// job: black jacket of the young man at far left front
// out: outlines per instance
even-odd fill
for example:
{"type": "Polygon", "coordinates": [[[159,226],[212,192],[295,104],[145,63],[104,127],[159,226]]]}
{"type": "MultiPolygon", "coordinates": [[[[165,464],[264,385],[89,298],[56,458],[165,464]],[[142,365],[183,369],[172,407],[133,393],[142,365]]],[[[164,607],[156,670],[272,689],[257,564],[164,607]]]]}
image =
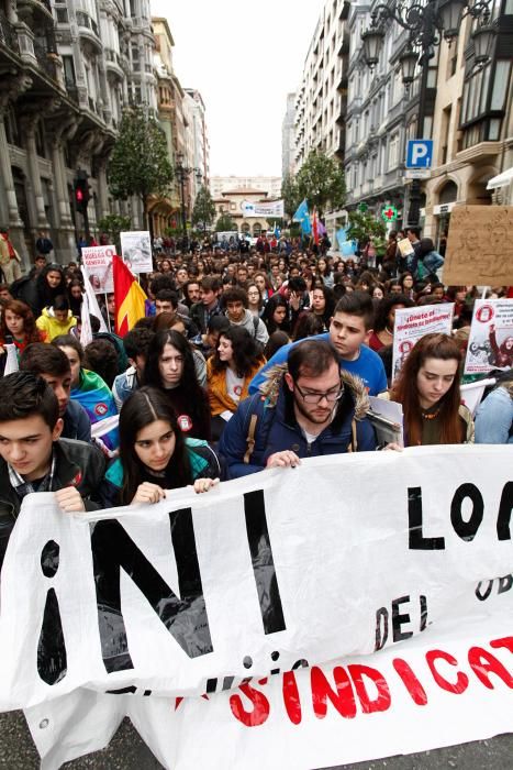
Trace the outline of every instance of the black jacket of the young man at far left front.
{"type": "MultiPolygon", "coordinates": [[[[88,510],[100,508],[93,502],[99,499],[99,487],[105,472],[105,460],[100,450],[83,441],[69,439],[59,439],[54,447],[57,454],[54,488],[76,486],[88,510]]],[[[7,463],[0,458],[0,568],[21,503],[9,481],[7,463]]]]}

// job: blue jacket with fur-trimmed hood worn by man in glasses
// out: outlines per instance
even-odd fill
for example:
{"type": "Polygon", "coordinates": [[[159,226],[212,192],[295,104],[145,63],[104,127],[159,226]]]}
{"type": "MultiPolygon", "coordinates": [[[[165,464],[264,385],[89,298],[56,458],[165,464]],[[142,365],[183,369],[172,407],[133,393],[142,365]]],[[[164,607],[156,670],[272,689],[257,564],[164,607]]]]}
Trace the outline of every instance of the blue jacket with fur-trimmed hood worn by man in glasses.
{"type": "Polygon", "coordinates": [[[228,479],[257,473],[266,468],[268,458],[275,452],[292,450],[300,458],[338,454],[348,451],[376,449],[376,436],[365,415],[368,408],[367,394],[358,377],[341,371],[345,395],[337,406],[332,424],[309,444],[298,425],[290,392],[283,385],[287,365],[275,366],[269,372],[265,393],[249,396],[239,404],[236,413],[224,428],[218,446],[228,479]],[[248,462],[244,462],[252,416],[255,415],[255,446],[248,462]],[[353,431],[356,446],[353,444],[353,431]]]}

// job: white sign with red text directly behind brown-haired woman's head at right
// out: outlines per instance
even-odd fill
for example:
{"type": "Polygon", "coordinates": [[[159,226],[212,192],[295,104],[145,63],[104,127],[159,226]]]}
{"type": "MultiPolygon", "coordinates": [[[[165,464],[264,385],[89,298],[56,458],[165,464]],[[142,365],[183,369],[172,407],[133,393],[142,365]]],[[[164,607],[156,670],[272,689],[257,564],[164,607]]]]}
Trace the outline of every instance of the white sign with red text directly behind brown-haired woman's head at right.
{"type": "Polygon", "coordinates": [[[393,380],[398,376],[413,345],[421,337],[433,332],[451,333],[453,314],[453,302],[423,305],[416,308],[395,310],[392,360],[393,380]]]}

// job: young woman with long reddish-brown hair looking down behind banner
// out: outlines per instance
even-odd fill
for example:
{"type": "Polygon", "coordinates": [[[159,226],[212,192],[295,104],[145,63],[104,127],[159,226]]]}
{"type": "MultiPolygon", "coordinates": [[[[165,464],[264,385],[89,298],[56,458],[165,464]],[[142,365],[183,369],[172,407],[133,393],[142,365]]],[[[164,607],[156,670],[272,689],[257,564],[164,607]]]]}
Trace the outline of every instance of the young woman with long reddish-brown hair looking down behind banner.
{"type": "Polygon", "coordinates": [[[461,404],[460,361],[448,334],[425,334],[413,346],[386,394],[402,404],[405,447],[473,443],[472,416],[461,404]]]}

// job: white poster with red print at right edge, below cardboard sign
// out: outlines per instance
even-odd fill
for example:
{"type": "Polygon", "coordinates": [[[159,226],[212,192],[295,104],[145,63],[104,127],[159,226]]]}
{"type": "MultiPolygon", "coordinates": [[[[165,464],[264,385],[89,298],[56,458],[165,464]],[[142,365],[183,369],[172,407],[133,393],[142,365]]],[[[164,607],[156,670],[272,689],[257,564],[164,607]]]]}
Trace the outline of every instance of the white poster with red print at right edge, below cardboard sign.
{"type": "Polygon", "coordinates": [[[465,374],[487,374],[513,366],[513,299],[477,299],[465,360],[465,374]]]}

